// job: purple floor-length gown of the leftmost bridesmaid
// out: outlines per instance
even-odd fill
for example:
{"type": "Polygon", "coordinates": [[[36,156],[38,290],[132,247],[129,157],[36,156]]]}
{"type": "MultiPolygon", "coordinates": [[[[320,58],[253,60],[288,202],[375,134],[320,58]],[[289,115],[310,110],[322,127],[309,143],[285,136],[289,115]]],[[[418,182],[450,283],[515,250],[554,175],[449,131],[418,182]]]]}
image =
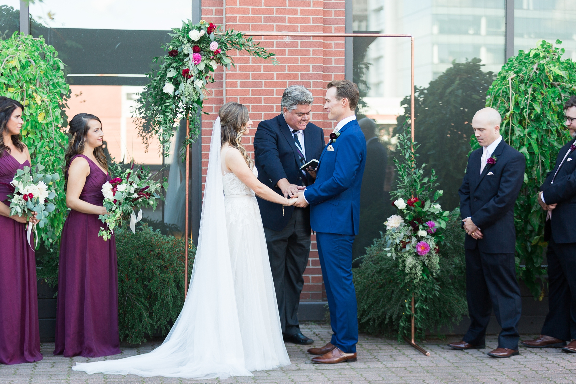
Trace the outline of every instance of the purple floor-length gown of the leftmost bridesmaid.
{"type": "MultiPolygon", "coordinates": [[[[20,164],[8,151],[0,156],[0,201],[9,205],[8,184],[20,164]]],[[[0,364],[42,360],[38,330],[38,294],[34,250],[26,241],[26,224],[0,216],[0,364]]]]}

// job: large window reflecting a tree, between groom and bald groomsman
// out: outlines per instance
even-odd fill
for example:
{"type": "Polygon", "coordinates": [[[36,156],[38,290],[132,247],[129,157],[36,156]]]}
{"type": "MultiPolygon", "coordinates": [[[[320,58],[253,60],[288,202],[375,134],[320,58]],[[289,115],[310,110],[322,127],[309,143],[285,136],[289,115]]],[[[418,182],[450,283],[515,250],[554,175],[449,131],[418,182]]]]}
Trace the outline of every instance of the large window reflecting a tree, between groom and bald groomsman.
{"type": "MultiPolygon", "coordinates": [[[[407,0],[353,0],[353,26],[355,32],[415,36],[415,85],[426,89],[416,94],[419,162],[436,170],[439,189],[445,191],[440,202],[453,210],[470,149],[472,116],[483,108],[491,72],[504,63],[505,1],[432,0],[414,5],[407,0]]],[[[360,123],[368,149],[360,230],[354,242],[357,258],[396,212],[389,191],[395,180],[397,121],[403,120],[410,101],[410,39],[354,37],[353,48],[353,81],[361,91],[357,116],[366,118],[360,123]]]]}

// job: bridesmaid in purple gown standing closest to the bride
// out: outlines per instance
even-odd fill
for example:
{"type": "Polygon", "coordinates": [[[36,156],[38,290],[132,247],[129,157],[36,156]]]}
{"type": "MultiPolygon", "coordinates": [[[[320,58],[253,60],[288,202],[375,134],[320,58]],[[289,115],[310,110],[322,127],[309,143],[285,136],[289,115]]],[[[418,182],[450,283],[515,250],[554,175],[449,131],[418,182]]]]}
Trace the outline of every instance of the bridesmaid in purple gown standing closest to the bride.
{"type": "Polygon", "coordinates": [[[99,356],[120,353],[116,243],[98,237],[101,188],[108,166],[98,117],[78,113],[69,123],[65,157],[66,206],[71,211],[60,241],[54,355],[99,356]]]}

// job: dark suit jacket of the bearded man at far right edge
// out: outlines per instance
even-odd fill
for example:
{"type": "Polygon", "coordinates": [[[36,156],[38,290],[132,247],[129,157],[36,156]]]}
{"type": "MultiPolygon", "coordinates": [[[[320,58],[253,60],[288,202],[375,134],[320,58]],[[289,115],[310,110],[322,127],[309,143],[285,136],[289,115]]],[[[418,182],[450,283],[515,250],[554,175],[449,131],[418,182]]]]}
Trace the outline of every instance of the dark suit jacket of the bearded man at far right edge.
{"type": "Polygon", "coordinates": [[[576,217],[576,151],[570,153],[564,164],[558,169],[574,141],[570,140],[560,149],[554,169],[552,172],[548,172],[544,184],[540,187],[546,204],[558,204],[552,210],[552,220],[546,222],[545,241],[550,240],[552,235],[554,241],[560,244],[576,242],[576,226],[574,226],[574,218],[576,217]],[[551,184],[556,169],[558,169],[558,173],[554,178],[554,184],[551,184]]]}

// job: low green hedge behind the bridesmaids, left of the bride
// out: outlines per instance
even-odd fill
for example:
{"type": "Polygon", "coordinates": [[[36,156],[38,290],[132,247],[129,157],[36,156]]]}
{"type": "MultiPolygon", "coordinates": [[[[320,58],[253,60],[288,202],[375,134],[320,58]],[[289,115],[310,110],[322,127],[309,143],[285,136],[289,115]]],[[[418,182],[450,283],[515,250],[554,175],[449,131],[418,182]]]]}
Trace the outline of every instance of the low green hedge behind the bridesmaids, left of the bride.
{"type": "MultiPolygon", "coordinates": [[[[161,234],[147,223],[136,234],[115,231],[118,254],[120,341],[141,344],[152,334],[166,336],[184,305],[184,239],[161,234]]],[[[37,252],[38,279],[58,284],[58,246],[37,252]]],[[[188,282],[196,248],[188,252],[188,282]]]]}

